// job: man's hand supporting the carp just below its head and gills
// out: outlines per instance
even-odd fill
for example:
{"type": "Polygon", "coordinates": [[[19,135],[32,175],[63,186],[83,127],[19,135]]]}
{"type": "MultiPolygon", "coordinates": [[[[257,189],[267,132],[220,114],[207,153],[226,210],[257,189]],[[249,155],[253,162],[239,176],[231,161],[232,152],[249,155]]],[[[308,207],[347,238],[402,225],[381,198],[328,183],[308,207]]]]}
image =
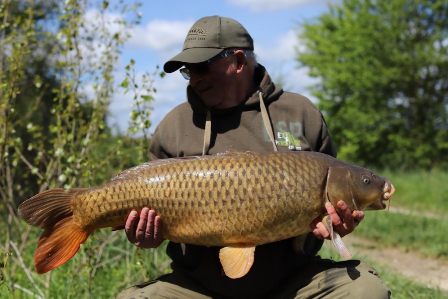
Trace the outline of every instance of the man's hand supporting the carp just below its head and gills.
{"type": "MultiPolygon", "coordinates": [[[[340,213],[342,215],[342,219],[337,214],[334,206],[327,202],[325,204],[325,208],[327,209],[328,215],[331,217],[331,221],[333,222],[333,229],[339,234],[339,236],[343,237],[348,235],[352,231],[355,230],[355,227],[364,219],[364,212],[362,211],[353,211],[350,212],[349,208],[342,200],[338,201],[337,208],[339,208],[340,213]]],[[[314,219],[311,222],[311,229],[314,236],[319,239],[329,239],[330,233],[325,228],[325,225],[322,223],[322,219],[314,219]]]]}

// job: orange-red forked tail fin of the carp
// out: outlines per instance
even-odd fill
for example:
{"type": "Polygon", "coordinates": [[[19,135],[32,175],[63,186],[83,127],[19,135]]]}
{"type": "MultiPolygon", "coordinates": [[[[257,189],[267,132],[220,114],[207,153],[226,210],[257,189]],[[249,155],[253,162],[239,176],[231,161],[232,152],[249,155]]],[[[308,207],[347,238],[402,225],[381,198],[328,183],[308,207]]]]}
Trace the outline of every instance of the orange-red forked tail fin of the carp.
{"type": "Polygon", "coordinates": [[[34,195],[18,207],[20,217],[43,229],[34,254],[38,274],[61,266],[78,252],[92,231],[73,221],[71,200],[81,189],[50,189],[34,195]]]}

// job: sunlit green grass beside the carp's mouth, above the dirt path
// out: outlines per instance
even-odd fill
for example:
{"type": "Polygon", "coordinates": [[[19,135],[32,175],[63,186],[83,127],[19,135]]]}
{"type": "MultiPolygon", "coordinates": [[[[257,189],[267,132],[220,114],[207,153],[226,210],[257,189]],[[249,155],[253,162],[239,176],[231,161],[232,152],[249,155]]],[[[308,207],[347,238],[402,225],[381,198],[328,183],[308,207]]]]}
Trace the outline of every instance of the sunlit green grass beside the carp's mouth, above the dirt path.
{"type": "Polygon", "coordinates": [[[406,212],[367,211],[354,234],[423,256],[447,259],[447,173],[435,170],[388,176],[397,190],[391,206],[406,212]]]}

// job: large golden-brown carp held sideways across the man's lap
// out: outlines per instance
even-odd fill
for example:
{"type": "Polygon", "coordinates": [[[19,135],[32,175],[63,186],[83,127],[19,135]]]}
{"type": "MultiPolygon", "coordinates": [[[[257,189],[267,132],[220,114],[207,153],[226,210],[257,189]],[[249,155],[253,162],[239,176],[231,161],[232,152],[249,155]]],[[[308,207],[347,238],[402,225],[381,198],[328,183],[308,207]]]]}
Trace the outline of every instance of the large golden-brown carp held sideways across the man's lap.
{"type": "Polygon", "coordinates": [[[149,207],[162,219],[163,238],[223,247],[224,272],[239,278],[250,270],[256,246],[308,233],[317,217],[331,229],[326,202],[381,210],[394,191],[388,179],[323,153],[230,150],[150,161],[102,186],[49,189],[18,213],[44,230],[34,255],[39,274],[67,262],[94,230],[124,228],[132,210],[149,207]]]}

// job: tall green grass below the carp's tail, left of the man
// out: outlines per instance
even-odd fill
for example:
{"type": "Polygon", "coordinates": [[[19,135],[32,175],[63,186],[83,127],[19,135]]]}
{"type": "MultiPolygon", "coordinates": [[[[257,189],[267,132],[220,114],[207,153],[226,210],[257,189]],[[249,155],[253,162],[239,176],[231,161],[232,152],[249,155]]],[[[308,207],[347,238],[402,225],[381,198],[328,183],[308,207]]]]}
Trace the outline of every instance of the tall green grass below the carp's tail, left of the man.
{"type": "Polygon", "coordinates": [[[18,255],[11,248],[12,256],[7,261],[0,286],[2,299],[115,298],[128,287],[169,271],[166,242],[157,250],[143,250],[128,242],[124,231],[102,229],[88,238],[67,263],[47,274],[38,275],[32,258],[41,231],[32,230],[36,238],[22,254],[18,255]]]}

